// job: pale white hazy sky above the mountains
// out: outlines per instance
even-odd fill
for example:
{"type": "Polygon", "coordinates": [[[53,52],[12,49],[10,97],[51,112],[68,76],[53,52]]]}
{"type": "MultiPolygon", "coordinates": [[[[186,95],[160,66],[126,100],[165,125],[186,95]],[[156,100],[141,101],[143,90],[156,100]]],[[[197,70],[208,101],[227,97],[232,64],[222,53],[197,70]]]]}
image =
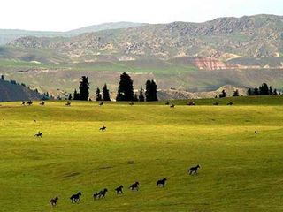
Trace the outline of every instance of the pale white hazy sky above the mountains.
{"type": "Polygon", "coordinates": [[[0,28],[66,31],[104,22],[283,15],[283,0],[1,0],[0,28]]]}

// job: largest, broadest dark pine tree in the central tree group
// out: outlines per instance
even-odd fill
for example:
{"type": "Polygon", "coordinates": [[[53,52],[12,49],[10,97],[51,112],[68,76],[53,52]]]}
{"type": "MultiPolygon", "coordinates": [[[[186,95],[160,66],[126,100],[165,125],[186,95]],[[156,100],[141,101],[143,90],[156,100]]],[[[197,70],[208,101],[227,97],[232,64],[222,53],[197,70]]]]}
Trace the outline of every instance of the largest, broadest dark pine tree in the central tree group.
{"type": "Polygon", "coordinates": [[[126,72],[120,75],[117,101],[134,101],[134,86],[131,77],[126,72]]]}

